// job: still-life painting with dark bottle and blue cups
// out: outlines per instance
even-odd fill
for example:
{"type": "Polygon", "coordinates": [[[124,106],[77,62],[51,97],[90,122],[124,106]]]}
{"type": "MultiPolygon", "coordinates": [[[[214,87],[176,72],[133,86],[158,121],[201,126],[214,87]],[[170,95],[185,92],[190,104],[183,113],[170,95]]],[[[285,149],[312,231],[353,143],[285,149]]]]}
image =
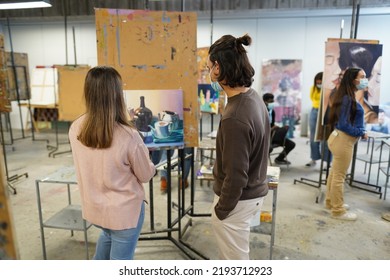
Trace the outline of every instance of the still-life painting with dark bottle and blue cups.
{"type": "Polygon", "coordinates": [[[124,94],[148,148],[184,147],[182,90],[125,90],[124,94]]]}

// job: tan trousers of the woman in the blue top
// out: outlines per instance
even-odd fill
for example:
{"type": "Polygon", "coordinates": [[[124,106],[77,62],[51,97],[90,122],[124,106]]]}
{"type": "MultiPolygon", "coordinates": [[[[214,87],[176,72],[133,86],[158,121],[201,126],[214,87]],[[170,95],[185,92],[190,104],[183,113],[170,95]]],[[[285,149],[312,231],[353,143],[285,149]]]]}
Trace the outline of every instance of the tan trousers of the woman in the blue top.
{"type": "Polygon", "coordinates": [[[332,152],[332,168],[326,182],[325,206],[332,210],[333,216],[343,215],[344,182],[351,164],[353,146],[359,137],[350,136],[335,129],[328,138],[328,147],[332,152]]]}

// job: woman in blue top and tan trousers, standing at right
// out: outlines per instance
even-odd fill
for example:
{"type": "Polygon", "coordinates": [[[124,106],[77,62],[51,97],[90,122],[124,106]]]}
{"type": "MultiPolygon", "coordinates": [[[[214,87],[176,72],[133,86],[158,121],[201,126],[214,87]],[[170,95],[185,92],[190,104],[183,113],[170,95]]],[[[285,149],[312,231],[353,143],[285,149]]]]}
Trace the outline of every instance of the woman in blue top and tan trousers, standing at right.
{"type": "Polygon", "coordinates": [[[334,128],[328,138],[333,164],[326,183],[325,207],[331,217],[354,221],[357,215],[347,212],[344,204],[343,186],[351,164],[353,146],[359,138],[367,139],[364,124],[364,109],[356,100],[356,92],[367,87],[366,73],[361,68],[348,68],[338,89],[330,96],[329,123],[334,128]]]}

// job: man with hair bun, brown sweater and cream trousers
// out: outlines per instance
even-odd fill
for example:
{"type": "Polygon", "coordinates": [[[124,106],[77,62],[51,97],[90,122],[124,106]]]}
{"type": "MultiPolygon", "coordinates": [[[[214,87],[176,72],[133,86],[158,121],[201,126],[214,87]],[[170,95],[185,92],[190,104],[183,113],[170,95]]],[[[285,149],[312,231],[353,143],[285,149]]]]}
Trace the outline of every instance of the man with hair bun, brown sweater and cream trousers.
{"type": "Polygon", "coordinates": [[[255,71],[244,46],[251,37],[224,35],[209,49],[211,86],[226,93],[216,139],[211,223],[221,259],[249,259],[251,220],[268,193],[270,125],[267,108],[251,88],[255,71]]]}

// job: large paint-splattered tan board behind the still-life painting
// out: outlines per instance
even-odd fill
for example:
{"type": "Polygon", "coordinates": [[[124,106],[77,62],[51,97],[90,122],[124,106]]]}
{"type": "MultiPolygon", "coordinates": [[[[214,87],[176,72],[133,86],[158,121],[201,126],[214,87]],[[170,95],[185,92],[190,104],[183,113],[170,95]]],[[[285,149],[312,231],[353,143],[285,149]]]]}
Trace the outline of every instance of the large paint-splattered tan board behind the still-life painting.
{"type": "Polygon", "coordinates": [[[197,147],[196,13],[95,9],[95,18],[98,64],[115,67],[125,90],[182,89],[185,145],[197,147]]]}

